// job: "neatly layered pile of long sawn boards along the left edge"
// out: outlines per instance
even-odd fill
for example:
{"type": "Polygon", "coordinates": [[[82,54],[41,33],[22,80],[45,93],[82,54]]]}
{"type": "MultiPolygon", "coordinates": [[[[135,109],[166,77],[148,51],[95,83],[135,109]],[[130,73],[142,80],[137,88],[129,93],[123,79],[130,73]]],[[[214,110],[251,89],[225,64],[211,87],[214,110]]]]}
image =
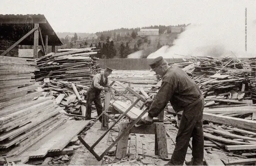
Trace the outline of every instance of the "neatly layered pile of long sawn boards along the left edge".
{"type": "Polygon", "coordinates": [[[48,152],[62,151],[88,123],[65,120],[53,94],[45,95],[33,82],[37,69],[31,65],[35,64],[33,59],[0,57],[0,154],[8,160],[21,157],[25,163],[48,152]],[[55,139],[50,139],[52,135],[46,139],[49,134],[55,139]],[[47,149],[43,148],[45,144],[47,149]]]}

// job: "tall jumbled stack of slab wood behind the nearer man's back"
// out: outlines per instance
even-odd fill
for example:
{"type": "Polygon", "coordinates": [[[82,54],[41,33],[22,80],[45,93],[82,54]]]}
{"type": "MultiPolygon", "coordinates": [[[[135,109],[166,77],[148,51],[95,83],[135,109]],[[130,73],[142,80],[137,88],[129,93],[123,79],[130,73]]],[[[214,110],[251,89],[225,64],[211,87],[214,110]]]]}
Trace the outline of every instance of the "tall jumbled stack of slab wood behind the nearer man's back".
{"type": "MultiPolygon", "coordinates": [[[[249,65],[237,58],[189,57],[180,67],[197,83],[205,97],[205,107],[226,104],[252,104],[249,96],[249,65]]],[[[148,95],[157,93],[161,81],[148,95]]]]}

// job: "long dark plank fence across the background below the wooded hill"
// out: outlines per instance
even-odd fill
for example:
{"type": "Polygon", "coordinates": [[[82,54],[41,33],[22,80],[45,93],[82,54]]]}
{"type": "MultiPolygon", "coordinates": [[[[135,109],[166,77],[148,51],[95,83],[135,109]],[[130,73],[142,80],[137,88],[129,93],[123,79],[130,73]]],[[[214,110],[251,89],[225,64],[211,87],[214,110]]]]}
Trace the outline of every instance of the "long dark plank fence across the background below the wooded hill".
{"type": "MultiPolygon", "coordinates": [[[[147,70],[150,69],[148,65],[153,59],[147,58],[115,58],[115,59],[100,59],[98,63],[102,69],[109,67],[116,70],[147,70]]],[[[183,61],[181,58],[165,59],[168,63],[183,61]]]]}

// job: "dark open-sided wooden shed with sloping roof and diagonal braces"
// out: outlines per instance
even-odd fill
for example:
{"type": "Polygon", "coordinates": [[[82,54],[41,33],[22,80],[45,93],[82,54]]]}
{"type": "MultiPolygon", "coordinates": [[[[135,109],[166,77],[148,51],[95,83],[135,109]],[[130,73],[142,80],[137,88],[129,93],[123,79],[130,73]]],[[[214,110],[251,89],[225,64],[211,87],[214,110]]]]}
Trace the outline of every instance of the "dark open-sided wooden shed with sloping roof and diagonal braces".
{"type": "Polygon", "coordinates": [[[0,56],[18,57],[19,45],[33,45],[33,58],[38,58],[38,45],[47,54],[48,46],[55,52],[63,44],[43,14],[0,14],[0,29],[0,56]]]}

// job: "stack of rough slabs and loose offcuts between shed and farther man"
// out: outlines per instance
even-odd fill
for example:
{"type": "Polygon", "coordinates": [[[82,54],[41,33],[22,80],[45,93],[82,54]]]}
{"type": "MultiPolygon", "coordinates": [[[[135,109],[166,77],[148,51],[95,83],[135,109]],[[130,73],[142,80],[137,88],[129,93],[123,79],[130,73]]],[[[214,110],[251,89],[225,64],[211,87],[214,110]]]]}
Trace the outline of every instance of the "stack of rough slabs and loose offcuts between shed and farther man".
{"type": "Polygon", "coordinates": [[[37,59],[40,71],[36,72],[36,81],[42,85],[41,91],[55,96],[56,104],[63,107],[65,113],[85,115],[86,90],[101,70],[96,61],[99,59],[93,57],[97,53],[94,48],[60,49],[59,53],[37,59]]]}

